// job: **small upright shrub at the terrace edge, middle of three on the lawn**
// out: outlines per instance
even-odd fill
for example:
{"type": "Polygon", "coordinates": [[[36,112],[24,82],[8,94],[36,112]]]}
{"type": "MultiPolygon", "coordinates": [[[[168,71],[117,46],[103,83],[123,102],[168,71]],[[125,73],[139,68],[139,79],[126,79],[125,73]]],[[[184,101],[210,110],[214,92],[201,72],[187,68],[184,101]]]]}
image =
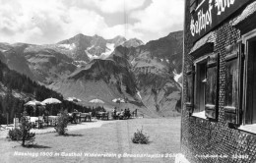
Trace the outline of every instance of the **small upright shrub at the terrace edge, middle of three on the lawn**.
{"type": "Polygon", "coordinates": [[[60,116],[57,119],[57,126],[54,128],[60,136],[65,135],[66,132],[68,131],[66,129],[68,126],[68,123],[69,123],[69,116],[68,116],[67,110],[65,111],[61,110],[60,116]]]}

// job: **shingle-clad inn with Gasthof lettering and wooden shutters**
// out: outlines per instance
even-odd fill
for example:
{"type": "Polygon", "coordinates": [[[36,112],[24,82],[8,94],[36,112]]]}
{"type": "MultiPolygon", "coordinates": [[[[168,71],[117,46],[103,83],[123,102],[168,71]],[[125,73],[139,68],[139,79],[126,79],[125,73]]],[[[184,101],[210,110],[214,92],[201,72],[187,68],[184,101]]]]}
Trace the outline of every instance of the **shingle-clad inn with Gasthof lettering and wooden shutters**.
{"type": "Polygon", "coordinates": [[[181,152],[256,162],[256,0],[186,0],[181,152]]]}

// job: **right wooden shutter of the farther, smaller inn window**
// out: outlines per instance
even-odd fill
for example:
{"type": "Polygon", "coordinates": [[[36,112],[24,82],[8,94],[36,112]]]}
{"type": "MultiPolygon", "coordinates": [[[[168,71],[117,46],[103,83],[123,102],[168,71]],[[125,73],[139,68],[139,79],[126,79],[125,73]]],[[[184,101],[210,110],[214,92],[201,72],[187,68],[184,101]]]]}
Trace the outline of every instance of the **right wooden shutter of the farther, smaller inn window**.
{"type": "Polygon", "coordinates": [[[217,120],[219,106],[219,54],[210,55],[207,62],[205,115],[217,120]]]}

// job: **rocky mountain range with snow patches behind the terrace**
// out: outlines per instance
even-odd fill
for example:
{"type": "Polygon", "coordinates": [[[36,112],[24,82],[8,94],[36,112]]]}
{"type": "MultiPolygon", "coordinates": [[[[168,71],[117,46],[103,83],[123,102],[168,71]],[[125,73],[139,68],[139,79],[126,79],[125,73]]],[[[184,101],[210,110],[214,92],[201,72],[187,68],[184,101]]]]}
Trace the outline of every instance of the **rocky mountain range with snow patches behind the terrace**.
{"type": "Polygon", "coordinates": [[[123,36],[104,39],[82,33],[55,44],[0,43],[0,60],[64,97],[82,105],[102,99],[150,117],[178,114],[183,33],[175,31],[148,43],[123,36]],[[127,103],[117,104],[114,98],[127,103]]]}

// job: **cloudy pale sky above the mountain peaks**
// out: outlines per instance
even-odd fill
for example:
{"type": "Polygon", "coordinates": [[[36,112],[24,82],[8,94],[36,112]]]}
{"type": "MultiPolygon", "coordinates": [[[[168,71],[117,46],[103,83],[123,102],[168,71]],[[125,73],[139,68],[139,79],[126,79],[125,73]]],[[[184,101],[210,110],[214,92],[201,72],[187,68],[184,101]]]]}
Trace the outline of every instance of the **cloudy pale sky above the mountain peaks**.
{"type": "Polygon", "coordinates": [[[78,33],[139,38],[183,29],[184,0],[0,0],[0,42],[56,43],[78,33]]]}

